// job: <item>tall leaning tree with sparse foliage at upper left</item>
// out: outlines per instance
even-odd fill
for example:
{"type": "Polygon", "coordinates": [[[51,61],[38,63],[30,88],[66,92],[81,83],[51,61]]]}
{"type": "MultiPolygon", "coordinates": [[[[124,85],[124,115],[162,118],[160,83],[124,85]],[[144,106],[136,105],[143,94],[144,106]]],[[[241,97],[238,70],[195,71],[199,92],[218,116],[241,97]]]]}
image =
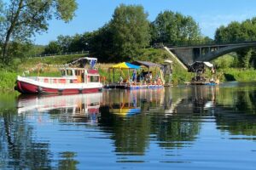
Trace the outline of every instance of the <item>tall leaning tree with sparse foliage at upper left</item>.
{"type": "Polygon", "coordinates": [[[75,0],[10,0],[3,8],[1,59],[3,63],[9,63],[10,41],[26,41],[36,32],[46,31],[47,21],[53,16],[65,22],[72,20],[77,3],[75,0]]]}

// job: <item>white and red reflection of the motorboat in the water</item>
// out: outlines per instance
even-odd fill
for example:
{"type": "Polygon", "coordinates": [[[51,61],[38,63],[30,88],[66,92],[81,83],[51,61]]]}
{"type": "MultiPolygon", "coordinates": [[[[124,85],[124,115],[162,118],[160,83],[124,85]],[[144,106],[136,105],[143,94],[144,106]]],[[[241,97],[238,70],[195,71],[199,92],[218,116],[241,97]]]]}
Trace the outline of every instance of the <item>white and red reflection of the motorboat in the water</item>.
{"type": "MultiPolygon", "coordinates": [[[[97,123],[102,93],[75,95],[20,95],[18,99],[18,114],[39,113],[38,122],[42,120],[40,113],[49,113],[51,119],[60,122],[97,123]]],[[[32,118],[35,118],[32,116],[32,118]]]]}

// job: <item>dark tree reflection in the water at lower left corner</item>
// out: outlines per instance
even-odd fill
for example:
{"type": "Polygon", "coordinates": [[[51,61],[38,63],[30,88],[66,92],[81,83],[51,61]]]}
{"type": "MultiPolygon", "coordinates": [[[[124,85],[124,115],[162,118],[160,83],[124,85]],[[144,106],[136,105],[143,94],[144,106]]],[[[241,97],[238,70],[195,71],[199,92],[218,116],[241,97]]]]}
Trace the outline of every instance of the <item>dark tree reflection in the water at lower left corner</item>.
{"type": "Polygon", "coordinates": [[[0,168],[50,168],[49,143],[35,139],[34,128],[16,110],[3,110],[0,115],[0,168]]]}

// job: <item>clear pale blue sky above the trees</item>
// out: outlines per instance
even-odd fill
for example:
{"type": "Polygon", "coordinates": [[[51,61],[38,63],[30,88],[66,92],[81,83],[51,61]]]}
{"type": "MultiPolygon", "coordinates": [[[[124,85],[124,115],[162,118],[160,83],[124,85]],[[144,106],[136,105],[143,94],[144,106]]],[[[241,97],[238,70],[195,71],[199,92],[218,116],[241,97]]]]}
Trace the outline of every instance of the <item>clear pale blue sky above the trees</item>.
{"type": "Polygon", "coordinates": [[[208,37],[214,37],[218,26],[256,16],[256,0],[77,0],[77,3],[79,8],[71,22],[50,20],[49,30],[37,35],[34,42],[47,44],[59,35],[95,31],[111,20],[114,8],[120,3],[143,5],[150,21],[164,10],[191,15],[201,27],[202,34],[208,37]]]}

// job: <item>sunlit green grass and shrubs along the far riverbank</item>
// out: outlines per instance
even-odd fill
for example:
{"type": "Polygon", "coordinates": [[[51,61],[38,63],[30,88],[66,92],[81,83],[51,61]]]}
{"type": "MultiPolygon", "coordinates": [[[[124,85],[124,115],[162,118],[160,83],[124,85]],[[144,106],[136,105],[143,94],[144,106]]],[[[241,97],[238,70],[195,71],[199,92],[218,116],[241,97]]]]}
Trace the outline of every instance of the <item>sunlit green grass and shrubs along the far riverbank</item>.
{"type": "MultiPolygon", "coordinates": [[[[188,82],[193,77],[193,73],[185,71],[175,59],[172,59],[164,49],[146,48],[139,52],[139,57],[136,60],[148,60],[155,63],[162,63],[164,59],[171,59],[173,61],[173,75],[172,84],[180,85],[184,82],[188,82]]],[[[46,64],[46,65],[64,65],[72,62],[74,59],[84,57],[83,54],[73,54],[73,55],[62,55],[62,56],[51,56],[44,58],[30,58],[17,60],[13,68],[9,70],[0,70],[0,91],[1,92],[12,92],[14,91],[16,77],[22,75],[24,71],[27,71],[36,65],[46,64]]],[[[225,56],[226,59],[230,59],[230,56],[225,56]]],[[[218,63],[223,63],[224,59],[215,59],[212,61],[219,68],[217,69],[217,76],[220,78],[221,82],[237,81],[237,82],[256,82],[256,70],[254,69],[241,69],[241,68],[225,68],[218,63]]],[[[108,82],[108,67],[110,63],[98,63],[97,68],[100,71],[101,77],[106,77],[108,82]]],[[[225,65],[227,66],[227,65],[225,65]]],[[[119,77],[119,72],[117,71],[117,76],[119,77]]],[[[60,76],[59,71],[55,67],[39,67],[38,69],[31,71],[26,76],[49,76],[56,77],[60,76]]]]}

